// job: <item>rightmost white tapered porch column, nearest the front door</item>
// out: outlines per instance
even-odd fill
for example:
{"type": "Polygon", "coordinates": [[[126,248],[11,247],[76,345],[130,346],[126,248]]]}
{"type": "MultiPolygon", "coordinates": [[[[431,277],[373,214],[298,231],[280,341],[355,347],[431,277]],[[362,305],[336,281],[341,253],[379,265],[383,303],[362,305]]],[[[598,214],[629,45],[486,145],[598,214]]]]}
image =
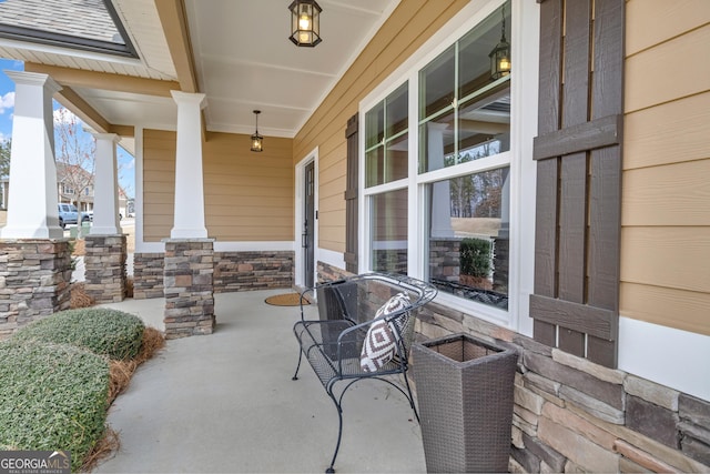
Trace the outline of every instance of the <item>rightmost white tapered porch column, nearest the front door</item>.
{"type": "Polygon", "coordinates": [[[175,211],[171,239],[206,239],[202,178],[202,115],[205,94],[171,91],[178,103],[175,211]]]}

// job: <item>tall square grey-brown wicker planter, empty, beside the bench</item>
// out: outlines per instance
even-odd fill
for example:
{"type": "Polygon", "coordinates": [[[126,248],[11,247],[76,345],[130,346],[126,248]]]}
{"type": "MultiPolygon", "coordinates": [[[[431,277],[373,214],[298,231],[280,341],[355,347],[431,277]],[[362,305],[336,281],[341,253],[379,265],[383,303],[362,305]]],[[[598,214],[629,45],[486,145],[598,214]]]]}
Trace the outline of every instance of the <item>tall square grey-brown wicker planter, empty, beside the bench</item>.
{"type": "Polygon", "coordinates": [[[507,472],[518,355],[467,334],[413,346],[428,472],[507,472]]]}

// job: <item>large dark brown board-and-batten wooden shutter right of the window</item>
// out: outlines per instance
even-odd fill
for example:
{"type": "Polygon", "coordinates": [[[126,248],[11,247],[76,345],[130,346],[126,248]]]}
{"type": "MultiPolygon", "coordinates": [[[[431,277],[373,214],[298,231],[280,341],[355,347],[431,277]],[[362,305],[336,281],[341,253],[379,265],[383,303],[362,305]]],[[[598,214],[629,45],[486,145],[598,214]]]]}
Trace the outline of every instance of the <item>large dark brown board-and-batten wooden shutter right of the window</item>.
{"type": "Polygon", "coordinates": [[[619,312],[623,23],[623,0],[541,2],[534,144],[535,339],[611,367],[619,312]]]}

